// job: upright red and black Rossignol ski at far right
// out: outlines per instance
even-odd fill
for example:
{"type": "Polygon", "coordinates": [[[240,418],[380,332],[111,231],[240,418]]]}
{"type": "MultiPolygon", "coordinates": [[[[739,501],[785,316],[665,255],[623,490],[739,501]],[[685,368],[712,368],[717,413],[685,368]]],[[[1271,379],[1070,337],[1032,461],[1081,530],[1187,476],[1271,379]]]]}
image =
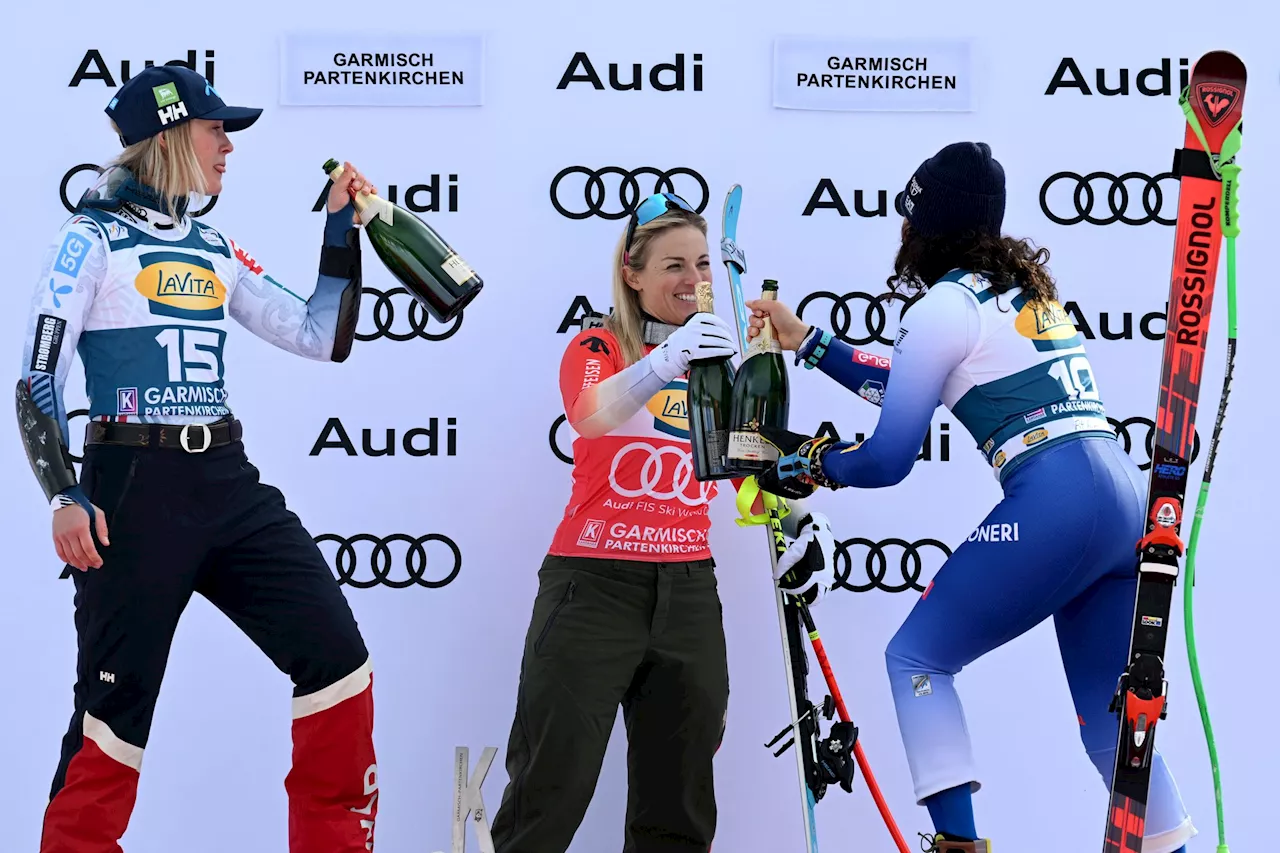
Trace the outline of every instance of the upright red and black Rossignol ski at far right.
{"type": "Polygon", "coordinates": [[[1174,158],[1179,199],[1169,323],[1129,661],[1111,702],[1120,724],[1103,853],[1142,850],[1156,727],[1166,713],[1165,646],[1184,552],[1183,506],[1219,250],[1224,232],[1235,233],[1238,169],[1231,160],[1240,150],[1244,82],[1244,64],[1236,56],[1212,51],[1196,63],[1180,99],[1187,132],[1174,158]]]}

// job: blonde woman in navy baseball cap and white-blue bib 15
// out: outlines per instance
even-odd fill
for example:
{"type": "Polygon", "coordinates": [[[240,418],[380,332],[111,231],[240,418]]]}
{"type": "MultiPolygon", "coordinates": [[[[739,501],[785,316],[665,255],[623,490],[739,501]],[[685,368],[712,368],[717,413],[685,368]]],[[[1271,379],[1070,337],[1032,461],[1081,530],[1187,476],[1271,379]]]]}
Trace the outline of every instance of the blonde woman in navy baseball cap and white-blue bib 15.
{"type": "Polygon", "coordinates": [[[124,150],[59,229],[36,280],[18,425],[54,551],[74,569],[79,648],[41,853],[119,853],[192,593],[293,683],[289,850],[372,849],[369,652],[315,542],[246,457],[223,375],[230,320],[285,352],[347,357],[361,282],[348,190],[366,181],[348,163],[330,190],[319,277],[302,298],[188,214],[192,196],[223,192],[228,134],[260,113],[227,106],[182,67],[129,79],[106,108],[124,150]],[[90,400],[79,478],[63,401],[77,353],[90,400]]]}

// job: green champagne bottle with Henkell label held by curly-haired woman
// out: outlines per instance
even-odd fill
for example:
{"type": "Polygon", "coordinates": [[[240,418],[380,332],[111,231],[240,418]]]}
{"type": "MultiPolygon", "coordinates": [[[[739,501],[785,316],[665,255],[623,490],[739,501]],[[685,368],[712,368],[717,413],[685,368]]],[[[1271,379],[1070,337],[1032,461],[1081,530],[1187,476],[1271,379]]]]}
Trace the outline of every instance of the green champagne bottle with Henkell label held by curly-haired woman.
{"type": "MultiPolygon", "coordinates": [[[[762,300],[778,298],[778,283],[764,279],[762,300]]],[[[782,347],[773,337],[773,324],[764,318],[764,328],[742,353],[742,364],[733,379],[733,403],[730,409],[728,467],[737,476],[763,474],[778,461],[778,451],[760,437],[760,426],[787,428],[791,392],[782,347]]]]}

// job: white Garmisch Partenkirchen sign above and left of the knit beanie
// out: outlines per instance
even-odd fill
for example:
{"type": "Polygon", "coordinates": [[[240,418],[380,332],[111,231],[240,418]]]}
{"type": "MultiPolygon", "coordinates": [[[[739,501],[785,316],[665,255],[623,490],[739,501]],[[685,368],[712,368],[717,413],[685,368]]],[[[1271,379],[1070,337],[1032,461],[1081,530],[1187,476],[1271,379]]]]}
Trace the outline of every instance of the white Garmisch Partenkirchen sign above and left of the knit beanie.
{"type": "Polygon", "coordinates": [[[773,105],[790,110],[969,111],[966,38],[773,41],[773,105]]]}

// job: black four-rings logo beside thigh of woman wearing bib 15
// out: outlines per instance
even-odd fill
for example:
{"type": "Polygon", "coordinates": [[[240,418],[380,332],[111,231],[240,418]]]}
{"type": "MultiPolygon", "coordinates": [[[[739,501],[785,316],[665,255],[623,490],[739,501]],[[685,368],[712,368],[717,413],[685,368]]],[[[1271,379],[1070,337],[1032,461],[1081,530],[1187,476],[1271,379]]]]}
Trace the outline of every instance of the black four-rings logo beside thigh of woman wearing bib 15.
{"type": "Polygon", "coordinates": [[[356,589],[378,585],[393,589],[407,589],[413,585],[439,589],[453,583],[462,571],[462,552],[453,539],[440,533],[428,533],[421,537],[403,533],[387,537],[369,533],[351,537],[321,533],[315,537],[315,542],[317,546],[328,542],[337,546],[330,565],[338,585],[356,589]],[[439,543],[433,548],[438,555],[434,558],[428,557],[429,543],[439,543]],[[444,553],[451,556],[440,561],[444,553]]]}

